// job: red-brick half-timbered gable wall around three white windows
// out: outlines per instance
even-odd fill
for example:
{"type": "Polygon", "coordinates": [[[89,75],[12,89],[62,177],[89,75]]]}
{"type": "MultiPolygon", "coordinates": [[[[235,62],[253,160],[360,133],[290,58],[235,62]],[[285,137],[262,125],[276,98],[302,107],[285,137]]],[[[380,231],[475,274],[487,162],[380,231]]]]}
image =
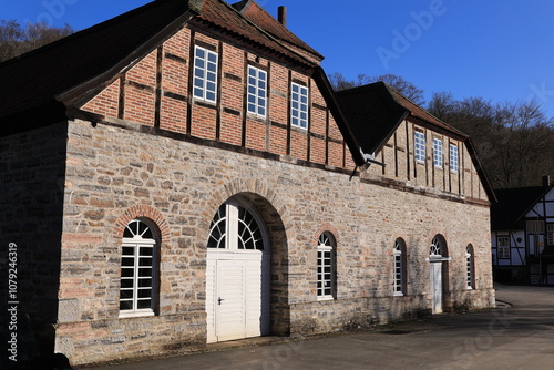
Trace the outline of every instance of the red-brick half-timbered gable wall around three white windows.
{"type": "Polygon", "coordinates": [[[345,158],[343,147],[339,151],[337,145],[324,145],[321,142],[309,144],[312,136],[307,135],[307,132],[316,134],[316,141],[332,140],[331,144],[339,143],[343,146],[340,130],[329,114],[327,103],[315,81],[309,76],[290,71],[277,62],[270,62],[263,55],[245,53],[236,45],[219,44],[218,40],[206,34],[199,32],[193,34],[186,28],[167,40],[161,53],[162,65],[157,65],[157,50],[152,51],[126,71],[123,89],[120,89],[121,83],[116,80],[82,109],[106,117],[119,116],[144,125],[158,124],[164,130],[191,134],[194,137],[233,145],[244,144],[248,148],[290,155],[319,164],[331,164],[349,171],[355,167],[349,153],[345,158]],[[222,59],[222,70],[218,73],[220,94],[216,104],[195,101],[188,88],[193,69],[191,51],[194,50],[196,42],[212,45],[222,59]],[[270,79],[268,116],[263,120],[244,112],[247,63],[267,70],[270,79]],[[158,69],[162,71],[161,81],[156,79],[158,69]],[[309,86],[308,131],[287,127],[289,86],[293,80],[309,86]],[[158,86],[162,90],[160,92],[156,91],[158,86]],[[157,119],[156,94],[161,96],[157,119]],[[120,101],[123,101],[123,106],[120,106],[120,101]],[[120,112],[123,112],[122,116],[120,112]],[[187,122],[187,119],[191,122],[187,122]],[[246,133],[243,133],[244,129],[246,133]],[[290,134],[288,131],[291,131],[290,134]]]}

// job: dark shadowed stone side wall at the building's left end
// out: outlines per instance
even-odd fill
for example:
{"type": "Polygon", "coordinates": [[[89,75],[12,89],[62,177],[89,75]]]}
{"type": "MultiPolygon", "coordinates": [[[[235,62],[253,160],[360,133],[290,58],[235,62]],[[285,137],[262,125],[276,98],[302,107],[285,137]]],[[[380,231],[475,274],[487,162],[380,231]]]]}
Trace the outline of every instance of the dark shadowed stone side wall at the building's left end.
{"type": "Polygon", "coordinates": [[[58,318],[66,136],[66,123],[59,123],[0,137],[0,308],[4,314],[8,246],[13,243],[18,260],[12,300],[19,301],[21,317],[31,318],[41,352],[53,350],[58,318]]]}

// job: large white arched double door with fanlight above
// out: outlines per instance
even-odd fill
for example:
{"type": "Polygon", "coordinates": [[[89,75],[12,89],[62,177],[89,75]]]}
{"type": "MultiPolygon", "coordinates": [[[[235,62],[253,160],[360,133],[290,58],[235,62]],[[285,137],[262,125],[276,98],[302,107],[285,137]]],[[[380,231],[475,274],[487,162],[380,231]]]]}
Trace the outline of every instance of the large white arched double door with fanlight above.
{"type": "Polygon", "coordinates": [[[270,246],[265,223],[240,197],[214,216],[207,241],[207,341],[270,332],[270,246]]]}

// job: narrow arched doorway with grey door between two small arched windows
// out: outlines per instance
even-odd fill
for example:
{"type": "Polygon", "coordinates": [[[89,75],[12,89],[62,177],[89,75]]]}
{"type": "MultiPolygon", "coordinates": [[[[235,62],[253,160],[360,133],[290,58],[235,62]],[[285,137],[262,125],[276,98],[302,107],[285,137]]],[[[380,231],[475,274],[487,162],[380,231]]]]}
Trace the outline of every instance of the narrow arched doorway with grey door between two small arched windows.
{"type": "Polygon", "coordinates": [[[444,240],[442,235],[434,236],[429,250],[430,290],[433,314],[441,314],[443,311],[443,291],[444,286],[448,286],[447,263],[449,260],[447,240],[444,240]]]}

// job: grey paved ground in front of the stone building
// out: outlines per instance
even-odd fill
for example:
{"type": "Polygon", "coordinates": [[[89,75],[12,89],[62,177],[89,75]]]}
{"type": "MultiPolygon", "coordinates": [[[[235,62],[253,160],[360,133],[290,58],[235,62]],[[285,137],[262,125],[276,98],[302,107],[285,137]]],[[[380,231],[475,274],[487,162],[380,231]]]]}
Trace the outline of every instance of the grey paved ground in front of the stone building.
{"type": "Polygon", "coordinates": [[[513,307],[92,369],[554,369],[554,288],[499,285],[496,298],[513,307]]]}

